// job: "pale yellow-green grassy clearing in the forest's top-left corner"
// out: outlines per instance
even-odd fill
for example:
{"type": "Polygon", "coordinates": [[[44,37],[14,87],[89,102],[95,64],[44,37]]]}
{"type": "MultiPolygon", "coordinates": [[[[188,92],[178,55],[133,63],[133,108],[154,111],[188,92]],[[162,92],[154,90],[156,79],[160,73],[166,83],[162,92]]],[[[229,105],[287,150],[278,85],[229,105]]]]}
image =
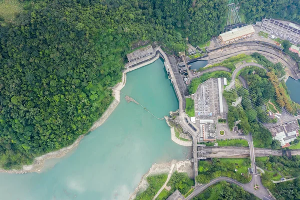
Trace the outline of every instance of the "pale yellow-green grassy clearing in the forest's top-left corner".
{"type": "Polygon", "coordinates": [[[0,0],[0,21],[12,22],[23,11],[23,4],[18,0],[0,0]]]}

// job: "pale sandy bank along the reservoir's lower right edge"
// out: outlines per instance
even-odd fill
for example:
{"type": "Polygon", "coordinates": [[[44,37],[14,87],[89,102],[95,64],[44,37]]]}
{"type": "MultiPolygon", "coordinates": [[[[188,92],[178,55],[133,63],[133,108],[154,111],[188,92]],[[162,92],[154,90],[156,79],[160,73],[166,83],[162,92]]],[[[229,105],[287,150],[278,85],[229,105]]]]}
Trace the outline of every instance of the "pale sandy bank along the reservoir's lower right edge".
{"type": "Polygon", "coordinates": [[[171,173],[173,173],[174,171],[185,172],[187,173],[188,177],[193,178],[193,165],[189,160],[185,160],[185,161],[172,160],[167,163],[153,164],[149,169],[149,171],[141,177],[138,186],[135,188],[134,192],[130,195],[129,200],[133,200],[138,192],[142,192],[146,190],[146,188],[148,187],[148,183],[147,183],[148,176],[169,173],[172,165],[174,167],[171,173]]]}

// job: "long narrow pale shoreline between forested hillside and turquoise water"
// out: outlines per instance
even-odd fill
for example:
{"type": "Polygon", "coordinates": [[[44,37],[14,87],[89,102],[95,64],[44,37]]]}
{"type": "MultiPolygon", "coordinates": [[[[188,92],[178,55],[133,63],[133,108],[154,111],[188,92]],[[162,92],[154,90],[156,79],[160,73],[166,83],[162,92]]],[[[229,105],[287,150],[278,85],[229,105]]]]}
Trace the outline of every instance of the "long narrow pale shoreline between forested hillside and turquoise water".
{"type": "Polygon", "coordinates": [[[123,70],[121,82],[117,83],[114,87],[111,88],[112,96],[114,97],[113,101],[109,104],[108,108],[101,115],[101,117],[93,123],[93,125],[90,127],[90,129],[86,133],[79,135],[78,138],[71,145],[63,147],[56,151],[52,151],[52,152],[43,154],[38,157],[35,157],[33,160],[33,163],[31,165],[23,165],[22,169],[5,170],[5,169],[0,168],[0,173],[15,173],[15,174],[32,173],[32,172],[41,173],[42,169],[44,168],[45,160],[52,159],[52,158],[61,158],[61,157],[65,156],[66,154],[68,154],[73,149],[75,149],[78,146],[78,144],[80,143],[81,139],[83,139],[83,137],[90,131],[93,131],[96,128],[98,128],[99,126],[101,126],[106,121],[106,119],[109,117],[109,115],[114,111],[114,109],[117,107],[117,105],[120,102],[120,90],[126,84],[126,73],[131,72],[140,67],[144,67],[148,64],[151,64],[154,61],[156,61],[158,58],[159,58],[159,56],[155,56],[147,62],[141,63],[132,68],[127,68],[127,69],[123,70]]]}

